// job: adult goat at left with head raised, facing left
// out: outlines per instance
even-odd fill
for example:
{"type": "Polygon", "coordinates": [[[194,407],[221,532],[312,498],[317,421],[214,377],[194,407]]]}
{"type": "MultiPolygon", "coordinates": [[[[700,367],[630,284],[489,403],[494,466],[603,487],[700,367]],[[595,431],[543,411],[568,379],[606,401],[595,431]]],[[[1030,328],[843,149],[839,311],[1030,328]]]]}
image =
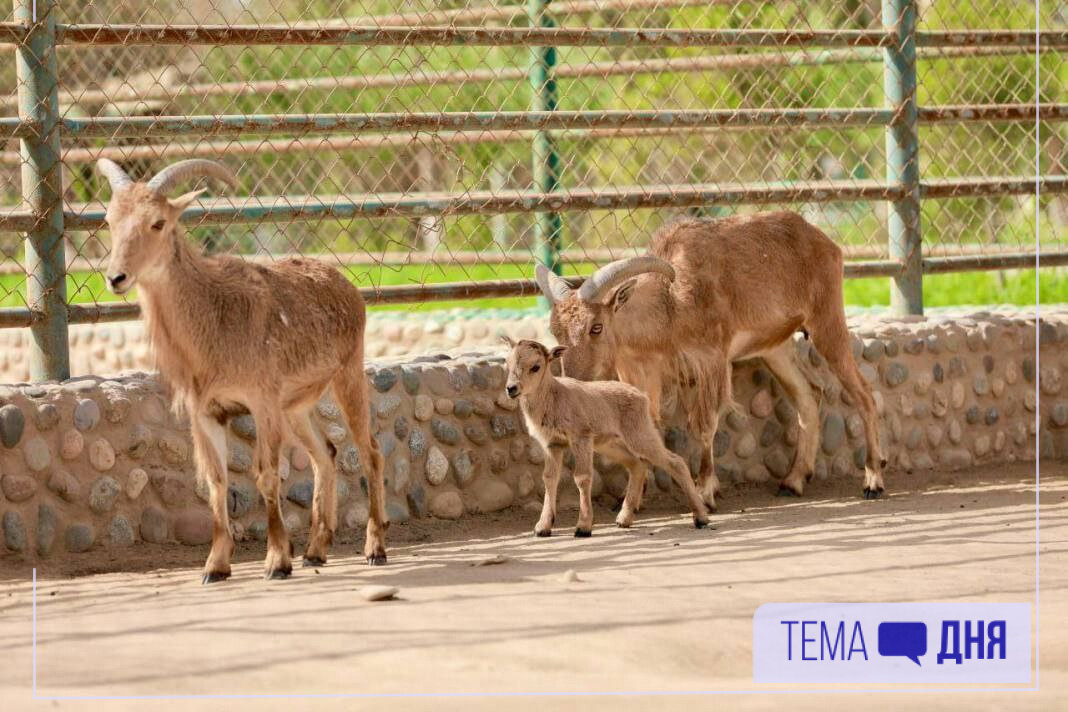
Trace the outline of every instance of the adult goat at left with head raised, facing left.
{"type": "Polygon", "coordinates": [[[256,424],[253,468],[267,508],[266,577],[285,579],[293,569],[280,508],[283,443],[298,442],[311,454],[315,488],[304,565],[326,563],[337,526],[336,471],[312,426],[311,409],[327,389],[344,411],[367,478],[364,553],[370,564],[384,564],[382,457],[368,425],[366,317],[359,290],[319,262],[283,259],[262,267],[205,257],[191,248],[178,219],[201,191],[175,199],[168,192],[201,176],[236,185],[219,163],[182,161],[147,183],[131,180],[107,159],[97,167],[111,184],[108,286],[117,295],[139,287],[159,371],[173,389],[175,407],[189,415],[198,475],[208,482],[215,527],[204,583],[231,572],[226,423],[242,413],[256,424]]]}

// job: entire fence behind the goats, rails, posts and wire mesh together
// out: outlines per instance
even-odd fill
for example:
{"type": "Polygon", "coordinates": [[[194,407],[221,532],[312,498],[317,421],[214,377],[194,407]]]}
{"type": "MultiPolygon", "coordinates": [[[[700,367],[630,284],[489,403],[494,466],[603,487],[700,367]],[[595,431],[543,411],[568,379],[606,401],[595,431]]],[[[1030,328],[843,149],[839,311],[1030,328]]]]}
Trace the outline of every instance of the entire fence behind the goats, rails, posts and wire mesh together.
{"type": "Polygon", "coordinates": [[[1055,7],[73,5],[0,15],[0,327],[32,331],[34,379],[67,376],[68,323],[138,314],[103,290],[100,157],[230,163],[242,190],[189,210],[193,239],[335,259],[372,303],[532,296],[535,259],[577,273],[757,206],[820,224],[900,314],[925,272],[1034,267],[1036,234],[1068,265],[1055,7]]]}

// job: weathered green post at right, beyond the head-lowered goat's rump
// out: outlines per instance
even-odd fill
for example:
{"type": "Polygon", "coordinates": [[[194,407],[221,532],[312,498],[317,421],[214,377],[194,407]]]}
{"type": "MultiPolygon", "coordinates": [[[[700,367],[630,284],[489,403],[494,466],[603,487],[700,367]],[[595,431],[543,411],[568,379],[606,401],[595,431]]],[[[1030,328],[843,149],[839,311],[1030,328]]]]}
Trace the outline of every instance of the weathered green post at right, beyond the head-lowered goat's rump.
{"type": "Polygon", "coordinates": [[[890,256],[905,265],[890,283],[891,311],[924,313],[923,247],[920,235],[920,133],[916,108],[916,0],[882,0],[882,23],[896,42],[884,49],[886,107],[895,111],[886,127],[886,180],[904,189],[890,204],[886,228],[890,256]]]}

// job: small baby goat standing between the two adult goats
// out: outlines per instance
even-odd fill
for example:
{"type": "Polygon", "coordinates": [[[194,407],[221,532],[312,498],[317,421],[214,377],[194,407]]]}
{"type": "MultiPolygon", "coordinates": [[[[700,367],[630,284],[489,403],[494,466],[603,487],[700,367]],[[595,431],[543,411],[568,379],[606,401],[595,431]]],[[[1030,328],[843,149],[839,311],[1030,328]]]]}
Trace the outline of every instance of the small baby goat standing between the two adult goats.
{"type": "Polygon", "coordinates": [[[556,378],[550,363],[564,353],[563,346],[552,350],[537,342],[505,343],[512,346],[507,361],[506,392],[519,398],[527,429],[545,448],[545,503],[534,534],[552,534],[556,519],[556,486],[560,484],[564,454],[575,455],[575,484],[579,488],[579,524],[575,536],[588,537],[593,532],[591,488],[594,453],[600,453],[627,468],[630,479],[616,524],[630,526],[641,499],[644,471],[648,466],[665,470],[682,488],[693,510],[697,528],[708,524],[708,512],[693,486],[690,471],[679,456],[663,445],[649,415],[649,401],[638,389],[618,381],[577,381],[556,378]]]}

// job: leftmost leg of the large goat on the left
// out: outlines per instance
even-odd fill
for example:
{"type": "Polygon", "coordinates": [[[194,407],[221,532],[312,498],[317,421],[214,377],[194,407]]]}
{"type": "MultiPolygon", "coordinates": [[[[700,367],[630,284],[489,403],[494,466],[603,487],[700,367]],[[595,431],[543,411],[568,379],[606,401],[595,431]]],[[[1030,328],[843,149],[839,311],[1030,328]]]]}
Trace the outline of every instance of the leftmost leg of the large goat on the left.
{"type": "Polygon", "coordinates": [[[207,480],[211,505],[211,551],[204,564],[203,583],[213,584],[230,577],[230,557],[234,553],[226,509],[226,428],[195,406],[188,410],[192,415],[197,474],[207,480]]]}

